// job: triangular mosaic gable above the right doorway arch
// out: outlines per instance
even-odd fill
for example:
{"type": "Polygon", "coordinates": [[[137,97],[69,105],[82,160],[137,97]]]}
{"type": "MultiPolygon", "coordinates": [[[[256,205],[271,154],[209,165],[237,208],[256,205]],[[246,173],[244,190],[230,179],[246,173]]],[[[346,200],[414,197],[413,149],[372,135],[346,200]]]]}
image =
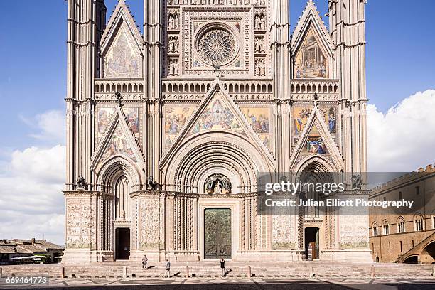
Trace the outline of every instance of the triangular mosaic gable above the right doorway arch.
{"type": "Polygon", "coordinates": [[[324,156],[332,161],[335,168],[341,170],[344,166],[343,157],[333,141],[324,122],[321,112],[315,104],[308,118],[301,138],[291,154],[291,168],[296,166],[306,156],[324,156]]]}

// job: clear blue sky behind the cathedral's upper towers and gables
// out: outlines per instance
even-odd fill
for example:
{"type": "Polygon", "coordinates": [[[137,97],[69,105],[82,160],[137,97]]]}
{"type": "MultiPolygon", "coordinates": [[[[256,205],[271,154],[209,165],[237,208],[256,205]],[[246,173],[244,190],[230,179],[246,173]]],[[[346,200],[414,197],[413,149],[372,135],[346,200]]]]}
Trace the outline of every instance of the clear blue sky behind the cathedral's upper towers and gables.
{"type": "MultiPolygon", "coordinates": [[[[106,3],[109,18],[117,0],[106,3]]],[[[142,23],[142,1],[127,4],[136,22],[142,23]]],[[[291,1],[292,29],[305,4],[291,1]]],[[[316,4],[323,16],[327,0],[316,4]]],[[[0,99],[7,107],[0,116],[2,151],[35,143],[28,136],[33,128],[23,117],[65,106],[67,5],[63,0],[1,1],[3,11],[13,12],[0,18],[0,99]]],[[[433,11],[432,0],[414,5],[404,0],[368,1],[367,95],[380,111],[435,87],[435,33],[428,29],[434,27],[433,11]]]]}

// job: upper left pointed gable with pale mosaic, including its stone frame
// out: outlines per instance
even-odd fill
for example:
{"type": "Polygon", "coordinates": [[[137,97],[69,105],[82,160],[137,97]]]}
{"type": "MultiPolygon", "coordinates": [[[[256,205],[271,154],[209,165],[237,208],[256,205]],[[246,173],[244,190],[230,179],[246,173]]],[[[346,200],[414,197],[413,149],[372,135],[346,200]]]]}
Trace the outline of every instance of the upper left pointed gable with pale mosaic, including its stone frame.
{"type": "Polygon", "coordinates": [[[142,76],[142,37],[124,0],[119,0],[102,36],[102,77],[142,76]]]}

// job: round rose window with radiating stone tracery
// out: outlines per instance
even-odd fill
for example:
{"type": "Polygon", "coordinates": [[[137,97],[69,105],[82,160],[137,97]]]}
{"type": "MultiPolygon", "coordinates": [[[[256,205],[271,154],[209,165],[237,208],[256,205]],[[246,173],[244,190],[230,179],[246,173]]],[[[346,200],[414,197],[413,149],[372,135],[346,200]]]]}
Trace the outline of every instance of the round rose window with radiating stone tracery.
{"type": "Polygon", "coordinates": [[[198,41],[198,53],[210,65],[223,65],[235,55],[235,39],[223,28],[205,31],[198,41]]]}

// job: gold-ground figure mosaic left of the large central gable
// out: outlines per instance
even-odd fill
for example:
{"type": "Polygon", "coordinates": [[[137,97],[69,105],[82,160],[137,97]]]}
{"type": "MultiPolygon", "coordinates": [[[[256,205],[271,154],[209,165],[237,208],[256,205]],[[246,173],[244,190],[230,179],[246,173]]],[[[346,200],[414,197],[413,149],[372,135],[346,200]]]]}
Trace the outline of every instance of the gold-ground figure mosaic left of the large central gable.
{"type": "Polygon", "coordinates": [[[195,111],[195,107],[172,107],[170,105],[165,108],[165,151],[168,150],[178,133],[183,129],[186,120],[195,111]]]}

